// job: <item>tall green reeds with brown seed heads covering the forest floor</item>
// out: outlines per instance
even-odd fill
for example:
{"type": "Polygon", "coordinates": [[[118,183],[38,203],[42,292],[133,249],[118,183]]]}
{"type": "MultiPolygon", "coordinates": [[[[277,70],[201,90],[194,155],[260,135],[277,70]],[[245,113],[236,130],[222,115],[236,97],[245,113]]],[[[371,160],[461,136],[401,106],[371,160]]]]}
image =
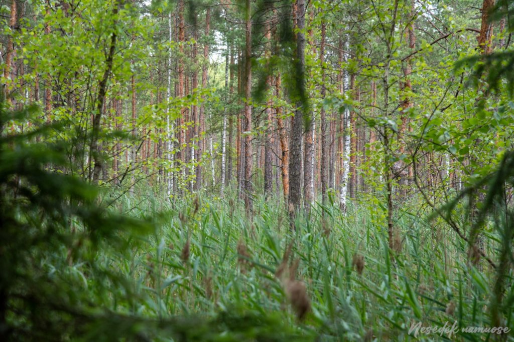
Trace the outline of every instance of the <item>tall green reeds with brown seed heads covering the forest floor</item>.
{"type": "MultiPolygon", "coordinates": [[[[117,210],[134,216],[160,213],[160,229],[130,253],[106,253],[104,265],[134,280],[145,298],[125,304],[143,315],[215,316],[237,310],[273,317],[306,340],[409,340],[413,323],[423,326],[489,326],[494,271],[468,262],[467,246],[429,212],[399,207],[395,222],[401,249],[391,251],[387,230],[373,208],[315,204],[289,230],[279,198],[254,198],[254,215],[230,189],[223,198],[170,202],[140,191],[123,196],[117,210]],[[290,252],[288,252],[288,247],[290,252]],[[284,260],[284,256],[286,260],[284,260]],[[297,270],[295,260],[298,263],[297,270]],[[310,311],[299,320],[291,289],[278,271],[289,265],[305,284],[310,311]]],[[[414,207],[414,206],[412,206],[414,207]]],[[[488,252],[495,253],[494,246],[488,252]]],[[[78,267],[80,268],[80,267],[78,267]]],[[[506,297],[512,297],[512,270],[506,297]]],[[[116,293],[109,302],[119,310],[116,293]]],[[[507,310],[503,326],[512,326],[507,310]]],[[[440,340],[446,335],[419,335],[440,340]]],[[[452,339],[496,335],[459,332],[452,339]]],[[[502,338],[514,340],[514,334],[502,338]]]]}

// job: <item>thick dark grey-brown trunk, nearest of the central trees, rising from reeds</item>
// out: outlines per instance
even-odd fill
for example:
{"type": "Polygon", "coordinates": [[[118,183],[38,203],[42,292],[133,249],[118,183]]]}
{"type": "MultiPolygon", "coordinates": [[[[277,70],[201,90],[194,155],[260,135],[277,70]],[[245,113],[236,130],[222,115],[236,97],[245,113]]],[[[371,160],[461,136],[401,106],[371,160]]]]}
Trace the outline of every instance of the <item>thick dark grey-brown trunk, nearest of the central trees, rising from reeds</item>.
{"type": "Polygon", "coordinates": [[[302,128],[303,128],[303,110],[304,110],[304,82],[305,82],[305,0],[297,1],[297,25],[299,32],[297,34],[297,51],[296,51],[296,67],[297,67],[297,90],[299,99],[296,103],[295,116],[292,118],[291,125],[291,144],[290,144],[290,164],[289,164],[289,216],[291,218],[291,227],[294,227],[294,218],[296,212],[300,210],[302,189],[302,128]]]}

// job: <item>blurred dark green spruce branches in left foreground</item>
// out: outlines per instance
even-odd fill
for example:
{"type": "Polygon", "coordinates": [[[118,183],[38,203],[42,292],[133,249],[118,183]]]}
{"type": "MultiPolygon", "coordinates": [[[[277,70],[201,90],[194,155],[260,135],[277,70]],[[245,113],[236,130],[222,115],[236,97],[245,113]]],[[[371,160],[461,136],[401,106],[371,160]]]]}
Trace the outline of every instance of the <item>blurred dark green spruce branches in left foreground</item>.
{"type": "MultiPolygon", "coordinates": [[[[0,340],[286,340],[276,314],[230,308],[209,316],[141,314],[145,298],[101,255],[156,231],[102,207],[99,190],[67,175],[66,147],[37,143],[56,127],[6,134],[38,107],[0,103],[0,340]]],[[[299,336],[296,336],[298,340],[299,336]]]]}

